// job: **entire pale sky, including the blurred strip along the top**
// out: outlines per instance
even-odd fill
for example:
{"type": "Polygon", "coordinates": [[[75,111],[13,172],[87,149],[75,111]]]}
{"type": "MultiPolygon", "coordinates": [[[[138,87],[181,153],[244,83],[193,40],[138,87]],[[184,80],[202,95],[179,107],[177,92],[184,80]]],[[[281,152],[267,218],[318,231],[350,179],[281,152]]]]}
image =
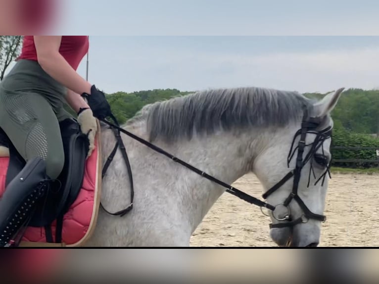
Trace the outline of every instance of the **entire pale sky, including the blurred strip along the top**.
{"type": "Polygon", "coordinates": [[[370,90],[378,10],[377,0],[60,0],[49,34],[90,35],[89,81],[108,94],[370,90]]]}

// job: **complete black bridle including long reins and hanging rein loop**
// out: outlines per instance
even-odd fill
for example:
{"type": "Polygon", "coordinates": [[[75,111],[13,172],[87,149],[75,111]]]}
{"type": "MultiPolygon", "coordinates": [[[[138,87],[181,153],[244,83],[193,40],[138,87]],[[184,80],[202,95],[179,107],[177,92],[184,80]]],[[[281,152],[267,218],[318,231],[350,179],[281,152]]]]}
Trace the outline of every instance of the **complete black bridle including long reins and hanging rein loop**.
{"type": "MultiPolygon", "coordinates": [[[[332,128],[331,127],[328,127],[326,128],[325,130],[322,130],[322,131],[316,131],[316,129],[320,126],[321,124],[321,120],[319,118],[314,118],[314,117],[310,117],[308,119],[308,111],[307,111],[307,107],[304,106],[303,107],[303,121],[302,121],[302,124],[301,124],[301,129],[299,129],[294,138],[293,138],[293,142],[292,142],[292,145],[291,145],[291,148],[290,148],[290,151],[289,151],[289,154],[288,154],[288,159],[287,159],[287,163],[288,163],[288,167],[289,167],[289,162],[291,161],[291,159],[293,158],[294,156],[294,153],[295,153],[295,150],[297,148],[298,150],[298,153],[297,153],[297,158],[296,158],[296,167],[294,170],[291,170],[281,181],[279,181],[276,185],[274,185],[271,189],[269,189],[265,194],[263,194],[263,198],[264,199],[267,199],[267,197],[271,194],[273,194],[276,190],[280,189],[290,178],[293,177],[293,187],[292,187],[292,192],[289,194],[289,196],[285,199],[284,203],[282,204],[278,204],[276,206],[273,206],[267,202],[264,202],[262,200],[259,200],[239,189],[236,189],[235,187],[231,186],[231,185],[228,185],[222,181],[220,181],[219,179],[216,179],[215,177],[205,173],[204,171],[201,171],[197,168],[195,168],[194,166],[186,163],[185,161],[179,159],[178,157],[175,157],[173,156],[172,154],[166,152],[165,150],[155,146],[154,144],[150,143],[150,142],[147,142],[145,140],[143,140],[142,138],[122,129],[120,127],[120,125],[118,124],[116,118],[114,117],[113,114],[110,115],[110,118],[113,120],[114,124],[113,123],[110,123],[109,121],[107,121],[106,119],[99,119],[100,121],[102,121],[103,123],[107,124],[114,132],[114,135],[116,137],[116,144],[112,150],[112,152],[110,153],[109,157],[107,158],[104,166],[103,166],[103,170],[102,170],[102,178],[106,175],[106,171],[110,165],[110,163],[112,162],[116,152],[117,152],[117,149],[120,148],[121,150],[121,153],[123,155],[123,158],[124,158],[124,161],[125,161],[125,164],[127,166],[127,169],[128,169],[128,176],[129,176],[129,182],[130,182],[130,189],[131,189],[131,202],[130,202],[130,205],[128,207],[126,207],[125,209],[121,210],[121,211],[118,211],[116,213],[110,213],[109,211],[107,211],[103,205],[100,203],[100,206],[103,208],[103,210],[108,213],[108,214],[111,214],[111,215],[114,215],[114,216],[124,216],[125,214],[127,214],[128,212],[130,212],[132,209],[133,209],[133,199],[134,199],[134,186],[133,186],[133,175],[132,175],[132,170],[131,170],[131,166],[130,166],[130,162],[129,162],[129,158],[128,158],[128,155],[126,153],[126,150],[125,150],[125,146],[124,146],[124,143],[121,139],[121,136],[120,136],[120,133],[123,133],[123,134],[126,134],[128,135],[129,137],[131,137],[132,139],[138,141],[138,142],[141,142],[142,144],[146,145],[147,147],[153,149],[154,151],[170,158],[172,161],[176,162],[176,163],[179,163],[181,164],[182,166],[188,168],[189,170],[191,170],[192,172],[200,175],[201,177],[209,180],[209,181],[212,181],[218,185],[220,185],[221,187],[224,187],[226,188],[226,192],[232,194],[232,195],[235,195],[237,196],[238,198],[250,203],[250,204],[254,204],[254,205],[257,205],[259,207],[261,207],[261,210],[262,208],[267,208],[268,210],[271,210],[272,211],[272,216],[274,217],[274,219],[278,220],[278,221],[287,221],[286,223],[278,223],[278,224],[270,224],[270,228],[283,228],[283,227],[290,227],[290,226],[295,226],[296,224],[299,224],[299,223],[306,223],[308,222],[309,219],[315,219],[315,220],[318,220],[318,221],[322,221],[322,222],[325,222],[326,221],[326,217],[324,215],[319,215],[319,214],[315,214],[313,212],[311,212],[308,207],[305,205],[305,203],[302,201],[302,199],[299,197],[299,195],[297,194],[297,191],[298,191],[298,185],[299,185],[299,181],[300,181],[300,175],[301,175],[301,170],[302,168],[305,166],[305,164],[312,159],[312,157],[314,157],[316,155],[316,151],[321,147],[323,146],[323,143],[325,140],[327,140],[328,138],[331,137],[332,135],[332,128]],[[315,134],[316,135],[316,139],[313,143],[307,145],[305,143],[305,139],[306,139],[306,135],[308,133],[311,133],[311,134],[315,134]],[[293,148],[294,146],[294,142],[295,142],[295,139],[297,136],[300,135],[300,141],[298,142],[298,145],[297,147],[293,148]],[[306,146],[311,146],[311,149],[310,151],[308,152],[308,154],[304,157],[303,159],[303,153],[304,153],[304,149],[306,146]],[[300,217],[300,218],[297,218],[295,220],[291,220],[291,214],[290,214],[290,209],[288,207],[289,203],[292,201],[292,200],[295,200],[297,201],[297,203],[299,204],[299,206],[301,207],[301,209],[303,210],[304,214],[300,217]],[[284,218],[279,218],[279,217],[276,217],[274,212],[276,210],[276,208],[280,205],[283,205],[287,208],[287,214],[284,216],[284,218]]],[[[324,150],[324,149],[323,149],[324,150]]],[[[318,154],[318,156],[315,156],[317,159],[319,159],[319,163],[320,161],[322,160],[326,160],[326,157],[325,155],[322,155],[322,154],[318,154]]],[[[323,179],[323,183],[325,181],[325,177],[326,177],[326,174],[328,173],[330,175],[330,171],[329,171],[329,168],[330,168],[330,162],[325,164],[327,170],[325,171],[325,173],[317,180],[316,184],[321,180],[321,178],[323,179]]],[[[310,168],[310,173],[309,173],[309,181],[310,181],[310,176],[311,176],[311,172],[313,171],[313,166],[311,165],[311,168],[310,168]]],[[[314,174],[314,171],[313,171],[313,174],[314,174]]],[[[315,176],[315,174],[314,174],[315,176]]],[[[315,177],[316,178],[316,177],[315,177]]],[[[308,181],[308,186],[309,186],[309,181],[308,181]]],[[[262,211],[263,214],[265,214],[263,211],[262,211]]],[[[265,214],[266,215],[266,214],[265,214]]]]}

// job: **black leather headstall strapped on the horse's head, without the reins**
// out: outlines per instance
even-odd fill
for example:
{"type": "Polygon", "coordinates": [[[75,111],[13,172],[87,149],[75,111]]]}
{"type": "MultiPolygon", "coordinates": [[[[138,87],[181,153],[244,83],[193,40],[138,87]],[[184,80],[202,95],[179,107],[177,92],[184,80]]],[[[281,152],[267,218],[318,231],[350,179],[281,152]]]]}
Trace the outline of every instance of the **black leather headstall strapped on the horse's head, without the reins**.
{"type": "MultiPolygon", "coordinates": [[[[309,219],[315,219],[315,220],[322,221],[322,222],[325,222],[327,219],[326,216],[315,214],[311,210],[309,210],[307,205],[305,205],[304,201],[300,198],[300,196],[297,193],[298,193],[299,181],[300,181],[300,176],[301,176],[301,170],[303,169],[305,164],[309,160],[311,160],[313,157],[316,157],[319,160],[319,163],[320,163],[320,161],[321,161],[321,163],[324,162],[323,166],[326,167],[326,171],[316,181],[315,185],[321,179],[323,179],[323,184],[324,184],[325,177],[326,177],[327,173],[330,176],[330,164],[331,163],[327,162],[327,158],[324,155],[324,148],[322,148],[323,154],[317,154],[316,151],[320,147],[323,147],[323,144],[327,139],[331,138],[332,128],[328,127],[325,130],[316,131],[316,129],[321,124],[321,120],[319,118],[315,118],[315,117],[310,117],[308,119],[307,108],[304,107],[303,111],[304,111],[304,115],[303,115],[303,121],[301,124],[301,129],[299,129],[296,132],[296,134],[293,138],[292,145],[291,145],[291,148],[289,150],[288,158],[287,158],[287,166],[289,167],[289,162],[292,160],[294,153],[295,153],[295,150],[297,148],[297,158],[296,158],[295,169],[288,172],[288,174],[286,176],[284,176],[284,178],[280,182],[278,182],[275,186],[273,186],[271,189],[269,189],[266,193],[264,193],[262,195],[262,197],[264,199],[267,199],[267,197],[269,197],[275,191],[280,189],[290,178],[293,177],[293,185],[292,185],[291,193],[285,199],[284,203],[281,203],[281,204],[278,204],[275,206],[275,209],[277,209],[278,206],[284,206],[287,210],[287,214],[284,216],[284,218],[279,218],[279,217],[275,216],[275,214],[274,214],[275,209],[272,210],[272,216],[274,217],[274,219],[276,219],[277,221],[287,221],[287,222],[278,223],[278,224],[270,224],[270,228],[292,227],[292,226],[295,226],[295,225],[300,224],[300,223],[307,223],[309,221],[309,219]],[[305,142],[305,139],[306,139],[306,136],[308,133],[316,135],[315,141],[310,143],[310,144],[306,144],[306,142],[305,142]],[[298,136],[300,136],[300,140],[297,144],[297,147],[294,149],[293,145],[294,145],[294,142],[298,136]],[[304,149],[307,146],[310,146],[310,150],[309,150],[308,154],[303,158],[304,149]],[[291,219],[291,213],[290,213],[290,209],[288,207],[288,205],[290,204],[290,202],[292,200],[295,200],[297,202],[297,204],[300,206],[300,208],[303,210],[303,213],[304,213],[301,217],[299,217],[295,220],[291,219]]],[[[310,167],[310,171],[309,171],[308,186],[307,187],[309,187],[310,177],[311,177],[312,172],[313,172],[314,177],[316,178],[314,170],[313,170],[312,162],[313,161],[311,161],[311,167],[310,167]]],[[[262,209],[262,207],[261,207],[261,209],[262,209]]],[[[265,214],[263,211],[262,211],[262,213],[265,214]]],[[[268,216],[267,214],[265,214],[265,215],[268,216]]]]}

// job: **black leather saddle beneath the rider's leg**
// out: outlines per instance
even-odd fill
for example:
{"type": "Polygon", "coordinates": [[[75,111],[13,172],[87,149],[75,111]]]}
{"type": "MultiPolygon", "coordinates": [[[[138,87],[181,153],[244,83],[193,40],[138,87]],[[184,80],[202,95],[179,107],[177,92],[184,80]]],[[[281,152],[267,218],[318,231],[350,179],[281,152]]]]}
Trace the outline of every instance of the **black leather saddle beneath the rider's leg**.
{"type": "MultiPolygon", "coordinates": [[[[75,202],[82,188],[89,149],[88,139],[81,133],[76,120],[66,119],[60,122],[59,126],[64,147],[64,167],[57,180],[50,185],[46,196],[37,205],[28,224],[29,227],[44,227],[46,241],[53,242],[50,225],[57,220],[55,236],[57,243],[61,242],[63,216],[75,202]]],[[[0,144],[9,148],[9,166],[5,182],[7,186],[24,168],[26,162],[1,128],[0,144]]]]}

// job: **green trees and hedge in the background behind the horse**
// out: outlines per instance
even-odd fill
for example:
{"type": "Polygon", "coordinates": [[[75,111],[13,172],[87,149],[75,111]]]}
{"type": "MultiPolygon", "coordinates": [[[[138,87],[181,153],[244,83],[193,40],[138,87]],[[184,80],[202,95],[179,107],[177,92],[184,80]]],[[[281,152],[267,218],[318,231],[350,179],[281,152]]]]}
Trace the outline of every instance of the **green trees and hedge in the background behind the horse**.
{"type": "MultiPolygon", "coordinates": [[[[175,96],[188,95],[191,92],[180,92],[176,89],[151,90],[134,93],[118,92],[107,95],[112,112],[120,123],[136,115],[141,108],[155,101],[170,99],[175,96]]],[[[320,100],[326,94],[304,94],[320,100]]],[[[332,112],[334,121],[333,146],[378,147],[379,139],[368,134],[379,130],[379,91],[347,90],[341,96],[332,112]]],[[[333,149],[334,159],[367,159],[375,160],[375,150],[339,150],[333,149]]],[[[338,167],[370,168],[378,167],[373,163],[332,163],[338,167]]]]}

